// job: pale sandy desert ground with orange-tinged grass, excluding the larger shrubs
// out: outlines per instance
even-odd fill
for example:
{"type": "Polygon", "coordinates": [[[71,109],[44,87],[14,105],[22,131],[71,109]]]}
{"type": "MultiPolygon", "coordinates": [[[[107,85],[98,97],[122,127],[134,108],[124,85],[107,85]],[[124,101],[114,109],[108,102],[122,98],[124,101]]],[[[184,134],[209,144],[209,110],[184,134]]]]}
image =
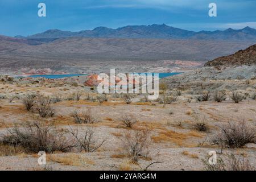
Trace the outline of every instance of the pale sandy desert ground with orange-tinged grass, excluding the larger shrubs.
{"type": "MultiPolygon", "coordinates": [[[[54,151],[47,152],[47,165],[39,166],[37,152],[26,151],[24,146],[0,144],[1,170],[203,170],[203,160],[209,151],[216,151],[218,158],[226,154],[243,157],[252,166],[256,164],[256,144],[247,143],[242,147],[224,147],[222,154],[212,140],[221,133],[219,126],[228,122],[246,122],[251,128],[256,127],[256,80],[250,80],[244,87],[234,87],[243,99],[235,103],[232,89],[226,89],[226,100],[216,102],[199,101],[200,92],[193,88],[168,88],[163,95],[176,98],[168,103],[146,101],[142,94],[136,94],[130,104],[122,96],[108,94],[100,96],[94,88],[84,86],[83,77],[48,80],[43,78],[13,79],[1,77],[0,81],[0,133],[1,137],[15,126],[24,127],[26,122],[42,122],[44,125],[64,130],[78,130],[79,135],[88,128],[94,130],[93,145],[104,144],[95,151],[54,151]],[[93,90],[94,89],[94,90],[93,90]],[[49,96],[53,115],[41,117],[36,109],[26,110],[23,98],[35,93],[49,96]],[[79,93],[80,98],[74,99],[79,93]],[[98,96],[98,97],[97,97],[98,96]],[[102,101],[99,97],[104,97],[102,101]],[[90,108],[93,123],[76,123],[72,114],[90,108]],[[130,115],[137,122],[132,127],[122,125],[123,115],[130,115]],[[205,122],[207,130],[196,127],[199,121],[205,122]],[[97,120],[97,121],[96,121],[97,120]],[[8,129],[9,128],[9,129],[8,129]],[[136,131],[147,131],[147,145],[136,160],[127,152],[127,136],[136,131]],[[126,135],[127,134],[127,135],[126,135]],[[126,144],[126,145],[125,145],[126,144]]],[[[230,80],[246,83],[244,80],[230,80]]],[[[218,80],[211,80],[212,84],[218,80]]],[[[237,84],[239,85],[239,84],[237,84]]],[[[205,89],[206,90],[206,89],[205,89]]],[[[203,92],[204,89],[201,89],[203,92]]],[[[214,94],[214,89],[210,90],[214,94]]],[[[68,138],[72,135],[67,134],[68,138]]],[[[73,139],[73,138],[72,138],[73,139]]],[[[2,140],[2,139],[1,139],[2,140]]],[[[129,142],[128,142],[129,143],[129,142]]]]}

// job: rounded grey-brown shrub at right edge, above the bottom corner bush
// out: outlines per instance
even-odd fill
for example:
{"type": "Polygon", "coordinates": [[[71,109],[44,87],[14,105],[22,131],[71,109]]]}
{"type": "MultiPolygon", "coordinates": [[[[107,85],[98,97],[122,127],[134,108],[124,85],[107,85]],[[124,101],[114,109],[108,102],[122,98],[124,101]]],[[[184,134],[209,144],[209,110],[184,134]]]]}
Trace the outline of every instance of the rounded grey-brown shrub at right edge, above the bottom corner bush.
{"type": "Polygon", "coordinates": [[[213,138],[213,144],[221,147],[239,148],[247,143],[256,142],[256,130],[245,121],[229,122],[227,125],[219,126],[220,134],[213,138]]]}

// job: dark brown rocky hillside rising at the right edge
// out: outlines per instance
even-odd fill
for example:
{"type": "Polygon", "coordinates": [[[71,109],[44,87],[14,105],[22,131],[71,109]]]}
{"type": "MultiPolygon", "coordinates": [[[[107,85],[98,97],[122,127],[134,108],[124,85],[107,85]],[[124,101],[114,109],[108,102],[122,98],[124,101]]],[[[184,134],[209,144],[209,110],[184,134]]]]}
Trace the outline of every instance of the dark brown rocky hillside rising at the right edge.
{"type": "Polygon", "coordinates": [[[205,66],[225,68],[253,64],[256,64],[256,44],[245,50],[240,50],[233,55],[219,57],[209,61],[205,63],[205,66]]]}

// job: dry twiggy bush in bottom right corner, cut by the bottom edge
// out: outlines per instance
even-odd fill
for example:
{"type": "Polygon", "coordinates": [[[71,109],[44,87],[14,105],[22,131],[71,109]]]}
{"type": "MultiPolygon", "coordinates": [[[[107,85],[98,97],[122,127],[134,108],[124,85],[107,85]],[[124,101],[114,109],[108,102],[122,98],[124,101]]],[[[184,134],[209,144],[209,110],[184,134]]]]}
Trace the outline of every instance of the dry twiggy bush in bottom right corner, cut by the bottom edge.
{"type": "Polygon", "coordinates": [[[243,156],[236,157],[234,154],[227,154],[225,162],[222,158],[217,159],[217,164],[210,164],[208,159],[203,160],[205,170],[207,171],[253,171],[249,160],[243,156]]]}

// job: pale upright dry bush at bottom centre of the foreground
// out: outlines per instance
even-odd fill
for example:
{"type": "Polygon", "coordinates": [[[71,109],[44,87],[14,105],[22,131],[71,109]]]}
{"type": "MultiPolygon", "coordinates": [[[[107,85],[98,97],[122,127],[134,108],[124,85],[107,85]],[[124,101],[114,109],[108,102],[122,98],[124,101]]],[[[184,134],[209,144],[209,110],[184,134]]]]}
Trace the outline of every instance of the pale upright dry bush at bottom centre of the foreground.
{"type": "Polygon", "coordinates": [[[132,162],[137,163],[139,157],[147,158],[149,144],[147,130],[126,132],[122,135],[121,141],[132,162]]]}

